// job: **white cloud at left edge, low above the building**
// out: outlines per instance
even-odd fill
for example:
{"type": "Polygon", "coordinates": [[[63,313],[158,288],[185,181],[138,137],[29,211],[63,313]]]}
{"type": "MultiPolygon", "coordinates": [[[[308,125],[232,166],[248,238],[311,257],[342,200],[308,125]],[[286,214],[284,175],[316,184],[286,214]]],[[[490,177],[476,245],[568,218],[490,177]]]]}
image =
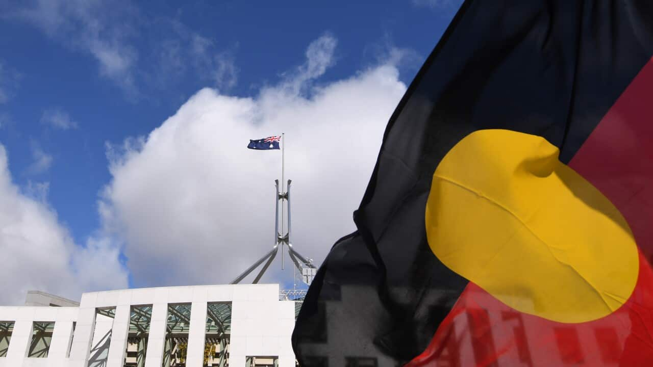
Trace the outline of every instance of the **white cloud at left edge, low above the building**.
{"type": "MultiPolygon", "coordinates": [[[[37,190],[44,190],[38,186],[37,190]]],[[[118,249],[97,239],[89,240],[86,247],[76,246],[56,212],[12,183],[1,144],[0,253],[3,305],[22,304],[31,289],[79,299],[83,291],[127,287],[118,249]]]]}

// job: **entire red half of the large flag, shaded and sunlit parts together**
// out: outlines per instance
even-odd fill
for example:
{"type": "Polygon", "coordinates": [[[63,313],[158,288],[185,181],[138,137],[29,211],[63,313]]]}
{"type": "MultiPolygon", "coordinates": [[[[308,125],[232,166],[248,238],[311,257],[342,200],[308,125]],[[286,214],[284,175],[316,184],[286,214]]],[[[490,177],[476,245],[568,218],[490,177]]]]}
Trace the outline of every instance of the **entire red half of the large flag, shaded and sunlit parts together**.
{"type": "Polygon", "coordinates": [[[640,249],[639,278],[628,302],[596,321],[564,324],[512,310],[470,283],[424,353],[407,366],[453,366],[446,351],[458,351],[459,366],[653,365],[651,96],[653,61],[639,72],[569,163],[613,202],[635,236],[640,249]],[[475,318],[469,316],[479,314],[486,315],[486,320],[472,321],[475,318]],[[481,351],[477,351],[479,345],[483,345],[481,351]]]}

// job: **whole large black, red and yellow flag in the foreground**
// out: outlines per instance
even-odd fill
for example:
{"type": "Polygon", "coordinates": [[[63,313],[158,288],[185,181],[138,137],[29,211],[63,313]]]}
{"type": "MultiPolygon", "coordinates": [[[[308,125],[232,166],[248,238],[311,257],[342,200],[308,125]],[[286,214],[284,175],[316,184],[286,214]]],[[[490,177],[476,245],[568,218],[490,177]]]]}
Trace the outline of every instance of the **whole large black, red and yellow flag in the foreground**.
{"type": "Polygon", "coordinates": [[[653,366],[653,2],[466,1],[387,125],[300,366],[653,366]]]}

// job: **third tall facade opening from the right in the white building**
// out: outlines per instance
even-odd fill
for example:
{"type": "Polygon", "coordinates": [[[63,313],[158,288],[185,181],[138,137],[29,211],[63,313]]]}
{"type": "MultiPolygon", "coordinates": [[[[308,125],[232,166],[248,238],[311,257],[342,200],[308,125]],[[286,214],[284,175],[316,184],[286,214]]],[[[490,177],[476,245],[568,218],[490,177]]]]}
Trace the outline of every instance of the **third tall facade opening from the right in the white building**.
{"type": "Polygon", "coordinates": [[[131,306],[129,334],[127,336],[127,353],[125,353],[123,366],[145,366],[145,353],[148,350],[151,320],[151,304],[131,306]]]}

